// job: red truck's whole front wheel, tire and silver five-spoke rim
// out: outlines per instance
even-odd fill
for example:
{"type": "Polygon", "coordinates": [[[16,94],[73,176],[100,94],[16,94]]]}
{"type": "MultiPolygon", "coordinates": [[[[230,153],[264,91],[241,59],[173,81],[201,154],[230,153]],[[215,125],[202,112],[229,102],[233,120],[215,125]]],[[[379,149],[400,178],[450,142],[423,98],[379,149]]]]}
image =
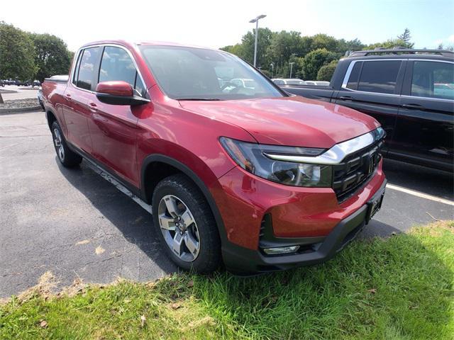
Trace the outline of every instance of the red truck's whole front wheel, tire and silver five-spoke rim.
{"type": "Polygon", "coordinates": [[[153,224],[170,258],[185,270],[209,273],[221,262],[218,229],[204,196],[178,174],[153,192],[153,224]]]}

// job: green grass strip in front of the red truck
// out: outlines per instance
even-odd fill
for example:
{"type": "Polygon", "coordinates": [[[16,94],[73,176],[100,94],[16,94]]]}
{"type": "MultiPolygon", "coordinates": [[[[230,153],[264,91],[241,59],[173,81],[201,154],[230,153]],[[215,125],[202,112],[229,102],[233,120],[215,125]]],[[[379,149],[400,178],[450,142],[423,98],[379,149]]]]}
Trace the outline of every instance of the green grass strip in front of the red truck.
{"type": "Polygon", "coordinates": [[[0,339],[454,339],[453,283],[454,222],[440,222],[255,278],[31,290],[0,306],[0,339]]]}

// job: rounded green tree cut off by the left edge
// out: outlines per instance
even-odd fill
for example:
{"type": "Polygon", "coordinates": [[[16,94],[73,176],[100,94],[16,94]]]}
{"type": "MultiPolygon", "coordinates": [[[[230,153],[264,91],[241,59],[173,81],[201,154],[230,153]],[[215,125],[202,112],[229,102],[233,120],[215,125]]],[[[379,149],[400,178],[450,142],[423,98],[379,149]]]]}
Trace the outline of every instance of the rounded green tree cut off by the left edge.
{"type": "Polygon", "coordinates": [[[0,21],[0,78],[32,79],[35,47],[29,33],[0,21]]]}

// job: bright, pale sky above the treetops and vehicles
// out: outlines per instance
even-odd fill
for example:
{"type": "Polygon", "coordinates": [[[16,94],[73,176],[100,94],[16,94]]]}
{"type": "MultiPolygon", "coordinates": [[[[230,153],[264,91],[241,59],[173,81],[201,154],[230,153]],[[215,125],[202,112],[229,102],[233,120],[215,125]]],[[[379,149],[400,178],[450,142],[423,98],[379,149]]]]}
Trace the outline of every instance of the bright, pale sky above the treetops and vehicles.
{"type": "Polygon", "coordinates": [[[70,50],[104,39],[172,41],[205,47],[240,42],[254,28],[326,33],[363,43],[395,38],[409,28],[415,47],[454,45],[454,0],[7,0],[0,21],[50,33],[70,50]]]}

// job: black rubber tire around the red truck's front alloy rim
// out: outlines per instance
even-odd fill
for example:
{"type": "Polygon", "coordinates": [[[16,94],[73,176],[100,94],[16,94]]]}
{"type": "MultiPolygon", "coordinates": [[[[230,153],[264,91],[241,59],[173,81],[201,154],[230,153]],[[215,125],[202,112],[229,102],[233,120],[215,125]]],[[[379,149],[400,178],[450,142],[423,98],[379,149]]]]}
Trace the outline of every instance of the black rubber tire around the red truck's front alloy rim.
{"type": "MultiPolygon", "coordinates": [[[[153,192],[153,225],[159,235],[162,246],[177,266],[184,270],[193,270],[197,273],[211,273],[215,271],[221,263],[221,239],[219,238],[218,228],[214,220],[213,213],[209,208],[203,194],[196,185],[184,176],[177,174],[167,177],[157,184],[153,192]],[[197,236],[199,237],[198,255],[192,261],[183,261],[170,249],[165,236],[161,231],[158,208],[163,198],[175,196],[186,205],[190,210],[196,226],[197,236]]],[[[175,228],[175,230],[178,230],[175,228]]],[[[164,230],[165,232],[165,230],[164,230]]],[[[174,232],[175,234],[175,232],[174,232]]],[[[187,248],[189,249],[189,248],[187,248]]],[[[190,252],[188,251],[188,254],[190,252]]]]}

